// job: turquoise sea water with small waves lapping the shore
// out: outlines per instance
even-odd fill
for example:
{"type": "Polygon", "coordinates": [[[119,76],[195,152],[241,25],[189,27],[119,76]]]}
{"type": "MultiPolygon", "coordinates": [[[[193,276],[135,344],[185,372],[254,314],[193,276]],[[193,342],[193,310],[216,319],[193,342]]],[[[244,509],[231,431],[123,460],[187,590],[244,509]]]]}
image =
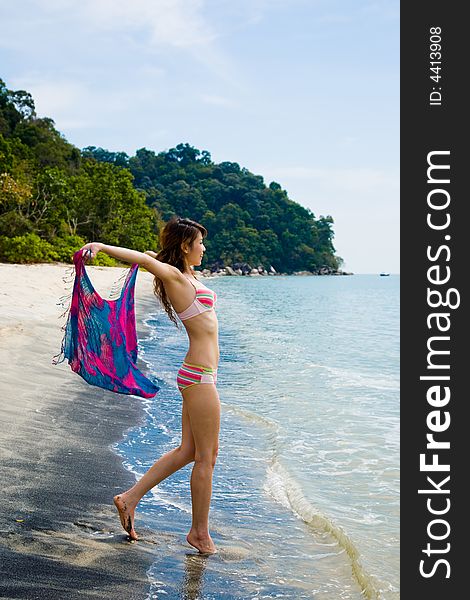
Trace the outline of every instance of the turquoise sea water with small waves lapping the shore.
{"type": "MultiPolygon", "coordinates": [[[[399,276],[214,277],[221,399],[198,556],[186,466],[141,500],[149,598],[399,597],[399,276]]],[[[161,389],[114,446],[140,477],[179,444],[188,340],[159,308],[139,341],[161,389]]]]}

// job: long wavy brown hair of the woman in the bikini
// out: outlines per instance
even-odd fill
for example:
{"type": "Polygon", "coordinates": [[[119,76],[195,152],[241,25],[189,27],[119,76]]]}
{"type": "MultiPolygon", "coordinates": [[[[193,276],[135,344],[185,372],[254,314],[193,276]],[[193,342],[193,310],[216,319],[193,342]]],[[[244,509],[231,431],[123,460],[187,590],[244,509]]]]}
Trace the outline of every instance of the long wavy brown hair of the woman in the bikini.
{"type": "MultiPolygon", "coordinates": [[[[207,236],[207,229],[200,223],[191,219],[182,219],[177,216],[172,217],[160,232],[161,250],[155,258],[177,267],[183,273],[185,260],[181,246],[186,244],[191,247],[199,231],[202,233],[203,238],[207,236]]],[[[153,280],[153,291],[169,318],[178,327],[179,323],[176,319],[176,313],[167,296],[163,281],[157,276],[153,280]]]]}

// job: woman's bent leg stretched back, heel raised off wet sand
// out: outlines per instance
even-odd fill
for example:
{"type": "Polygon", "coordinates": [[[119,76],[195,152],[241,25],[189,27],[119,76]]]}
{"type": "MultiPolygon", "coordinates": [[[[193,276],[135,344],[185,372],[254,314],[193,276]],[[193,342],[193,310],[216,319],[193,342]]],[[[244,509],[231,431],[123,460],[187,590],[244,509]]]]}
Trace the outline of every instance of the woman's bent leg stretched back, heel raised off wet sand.
{"type": "Polygon", "coordinates": [[[149,490],[151,490],[161,481],[166,479],[169,475],[175,471],[178,471],[194,460],[194,438],[191,431],[191,423],[189,420],[188,411],[184,402],[182,407],[181,421],[181,445],[173,450],[170,450],[161,458],[159,458],[130,489],[122,494],[117,494],[114,496],[113,501],[119,511],[121,524],[128,532],[131,539],[137,539],[137,534],[134,530],[134,512],[142,496],[144,496],[149,490]]]}

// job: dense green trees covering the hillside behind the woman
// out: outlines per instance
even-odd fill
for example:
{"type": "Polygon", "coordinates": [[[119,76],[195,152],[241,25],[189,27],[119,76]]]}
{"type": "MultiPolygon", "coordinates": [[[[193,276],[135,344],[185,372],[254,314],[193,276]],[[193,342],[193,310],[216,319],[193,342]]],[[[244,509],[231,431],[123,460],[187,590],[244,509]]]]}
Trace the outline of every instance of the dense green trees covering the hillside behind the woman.
{"type": "MultiPolygon", "coordinates": [[[[158,250],[173,214],[209,231],[205,266],[249,263],[278,272],[337,269],[333,219],[290,200],[276,182],[178,144],[135,156],[82,152],[0,79],[0,260],[70,262],[87,241],[158,250]]],[[[98,264],[114,264],[99,253],[98,264]]]]}

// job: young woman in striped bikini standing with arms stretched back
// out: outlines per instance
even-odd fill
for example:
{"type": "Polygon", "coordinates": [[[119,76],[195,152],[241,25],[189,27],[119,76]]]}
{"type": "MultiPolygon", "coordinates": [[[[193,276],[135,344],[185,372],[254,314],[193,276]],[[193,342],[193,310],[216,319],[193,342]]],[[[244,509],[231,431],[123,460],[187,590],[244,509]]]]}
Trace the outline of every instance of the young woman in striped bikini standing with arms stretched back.
{"type": "Polygon", "coordinates": [[[216,388],[219,362],[218,323],[215,292],[202,285],[193,267],[202,262],[203,238],[207,230],[190,219],[173,217],[163,228],[161,250],[137,252],[91,242],[82,250],[88,259],[98,252],[128,263],[139,263],[155,276],[154,292],[168,317],[177,324],[175,313],[189,337],[189,349],[177,374],[182,395],[181,444],[164,454],[130,489],[114,496],[122,526],[131,539],[134,511],[140,499],[166,477],[194,462],[191,473],[192,524],[187,541],[199,552],[217,550],[209,534],[212,474],[219,447],[220,399],[216,388]]]}

